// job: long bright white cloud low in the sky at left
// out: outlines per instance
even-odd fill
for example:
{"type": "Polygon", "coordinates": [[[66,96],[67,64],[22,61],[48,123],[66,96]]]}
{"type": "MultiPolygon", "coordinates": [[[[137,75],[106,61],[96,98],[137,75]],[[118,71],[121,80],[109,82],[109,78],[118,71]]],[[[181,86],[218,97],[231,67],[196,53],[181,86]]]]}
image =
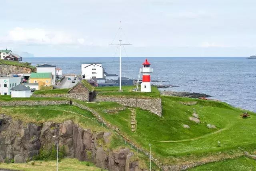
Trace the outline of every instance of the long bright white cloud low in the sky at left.
{"type": "Polygon", "coordinates": [[[8,36],[0,40],[34,45],[84,45],[87,43],[84,38],[77,38],[76,35],[67,32],[19,27],[10,30],[8,36]]]}

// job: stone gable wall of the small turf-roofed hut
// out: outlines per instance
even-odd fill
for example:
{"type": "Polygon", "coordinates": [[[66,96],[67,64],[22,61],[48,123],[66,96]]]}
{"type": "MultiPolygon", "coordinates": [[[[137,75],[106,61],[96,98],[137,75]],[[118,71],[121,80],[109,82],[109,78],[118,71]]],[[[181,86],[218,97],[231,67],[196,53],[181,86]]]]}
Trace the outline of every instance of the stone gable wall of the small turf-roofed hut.
{"type": "Polygon", "coordinates": [[[89,101],[90,92],[82,84],[78,84],[68,92],[68,97],[82,101],[89,101]]]}

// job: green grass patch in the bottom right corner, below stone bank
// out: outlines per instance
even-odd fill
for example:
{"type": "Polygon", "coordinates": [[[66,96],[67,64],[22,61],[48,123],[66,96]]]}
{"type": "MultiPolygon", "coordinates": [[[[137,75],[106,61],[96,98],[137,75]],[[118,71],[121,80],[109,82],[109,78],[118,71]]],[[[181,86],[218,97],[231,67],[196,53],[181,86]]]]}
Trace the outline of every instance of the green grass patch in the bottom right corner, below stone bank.
{"type": "Polygon", "coordinates": [[[198,166],[189,171],[254,171],[256,162],[253,159],[239,157],[236,159],[227,159],[206,165],[198,166]]]}

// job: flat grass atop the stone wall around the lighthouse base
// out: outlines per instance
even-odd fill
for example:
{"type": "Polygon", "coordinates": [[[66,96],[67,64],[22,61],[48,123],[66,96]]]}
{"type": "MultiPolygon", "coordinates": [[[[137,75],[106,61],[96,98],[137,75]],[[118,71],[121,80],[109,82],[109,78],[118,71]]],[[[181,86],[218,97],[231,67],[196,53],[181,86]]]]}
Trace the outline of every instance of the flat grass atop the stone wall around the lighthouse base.
{"type": "Polygon", "coordinates": [[[152,92],[135,92],[132,91],[135,86],[122,86],[122,92],[118,91],[119,87],[95,87],[98,95],[117,96],[117,97],[137,97],[137,98],[158,98],[160,92],[156,86],[151,87],[152,92]]]}

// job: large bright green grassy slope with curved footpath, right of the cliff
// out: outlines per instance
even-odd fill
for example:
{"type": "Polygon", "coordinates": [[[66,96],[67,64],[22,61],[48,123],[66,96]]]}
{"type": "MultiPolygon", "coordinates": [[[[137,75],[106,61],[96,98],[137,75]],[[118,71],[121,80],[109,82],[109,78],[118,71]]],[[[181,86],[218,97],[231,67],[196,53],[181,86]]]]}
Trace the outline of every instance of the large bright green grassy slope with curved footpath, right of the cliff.
{"type": "Polygon", "coordinates": [[[132,132],[129,125],[129,109],[110,114],[104,113],[104,108],[120,105],[108,102],[85,105],[96,109],[106,121],[119,127],[122,134],[138,146],[148,150],[148,144],[152,144],[154,157],[166,164],[210,159],[211,156],[237,157],[242,152],[236,146],[250,146],[256,141],[256,132],[252,131],[256,125],[256,114],[249,112],[251,117],[243,119],[240,117],[242,110],[222,102],[163,96],[163,117],[136,109],[136,132],[132,132]],[[200,123],[189,120],[193,109],[199,115],[200,123]],[[183,128],[183,124],[190,128],[183,128]],[[207,124],[216,125],[217,128],[208,129],[207,124]]]}

